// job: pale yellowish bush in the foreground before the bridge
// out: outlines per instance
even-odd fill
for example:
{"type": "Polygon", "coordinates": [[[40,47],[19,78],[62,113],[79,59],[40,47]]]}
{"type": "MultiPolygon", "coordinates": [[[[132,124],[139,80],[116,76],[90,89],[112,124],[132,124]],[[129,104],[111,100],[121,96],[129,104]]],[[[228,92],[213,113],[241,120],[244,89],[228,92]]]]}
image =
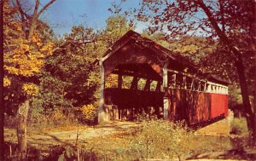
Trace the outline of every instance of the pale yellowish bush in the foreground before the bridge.
{"type": "Polygon", "coordinates": [[[183,158],[192,150],[193,133],[182,123],[166,120],[143,121],[131,141],[142,158],[183,158]]]}

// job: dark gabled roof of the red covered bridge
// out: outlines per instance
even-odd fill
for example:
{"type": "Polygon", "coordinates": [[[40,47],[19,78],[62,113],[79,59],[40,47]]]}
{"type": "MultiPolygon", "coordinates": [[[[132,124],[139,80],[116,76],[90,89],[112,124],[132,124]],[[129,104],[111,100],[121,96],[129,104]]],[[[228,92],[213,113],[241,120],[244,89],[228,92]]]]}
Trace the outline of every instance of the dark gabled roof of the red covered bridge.
{"type": "Polygon", "coordinates": [[[228,82],[222,78],[201,72],[198,66],[195,66],[193,62],[184,58],[182,55],[180,55],[180,53],[166,49],[160,44],[155,43],[147,37],[142,37],[139,33],[133,31],[126,32],[123,37],[120,37],[119,40],[113,43],[110,48],[108,48],[100,57],[98,57],[93,64],[99,65],[100,60],[102,60],[104,63],[104,61],[108,60],[111,55],[121,53],[120,49],[124,48],[125,45],[130,45],[130,47],[137,49],[148,49],[152,51],[154,55],[157,56],[161,67],[163,67],[164,62],[168,60],[171,62],[169,63],[171,65],[167,66],[169,69],[174,69],[180,72],[186,70],[188,73],[192,73],[193,75],[196,75],[202,79],[207,79],[208,81],[212,81],[214,83],[222,83],[224,85],[228,84],[228,82]]]}

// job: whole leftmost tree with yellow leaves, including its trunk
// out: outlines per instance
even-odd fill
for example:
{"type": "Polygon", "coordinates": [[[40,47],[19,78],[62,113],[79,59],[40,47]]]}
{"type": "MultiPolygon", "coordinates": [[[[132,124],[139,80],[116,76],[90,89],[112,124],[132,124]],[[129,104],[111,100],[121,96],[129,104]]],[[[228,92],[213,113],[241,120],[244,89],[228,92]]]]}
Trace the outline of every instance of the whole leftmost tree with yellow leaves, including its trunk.
{"type": "Polygon", "coordinates": [[[46,24],[39,20],[39,16],[55,0],[49,1],[39,9],[36,1],[32,12],[28,12],[20,0],[14,4],[4,5],[3,35],[4,39],[4,70],[6,77],[5,99],[7,102],[18,101],[17,136],[21,158],[26,154],[26,118],[29,100],[38,93],[38,86],[34,83],[35,76],[44,66],[44,56],[51,55],[53,44],[42,37],[46,24]],[[12,91],[11,89],[18,89],[12,91]],[[18,93],[17,93],[18,92],[18,93]],[[19,95],[20,94],[20,95],[19,95]],[[15,96],[14,96],[15,95],[15,96]]]}

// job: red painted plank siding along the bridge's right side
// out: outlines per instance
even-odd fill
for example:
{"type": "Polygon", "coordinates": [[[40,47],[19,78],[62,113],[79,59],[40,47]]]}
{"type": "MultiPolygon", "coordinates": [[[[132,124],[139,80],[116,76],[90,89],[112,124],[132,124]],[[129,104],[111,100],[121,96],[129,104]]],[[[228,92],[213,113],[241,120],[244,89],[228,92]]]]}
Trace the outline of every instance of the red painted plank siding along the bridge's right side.
{"type": "Polygon", "coordinates": [[[200,124],[222,114],[227,117],[228,95],[184,89],[169,91],[171,120],[186,120],[188,124],[200,124]]]}

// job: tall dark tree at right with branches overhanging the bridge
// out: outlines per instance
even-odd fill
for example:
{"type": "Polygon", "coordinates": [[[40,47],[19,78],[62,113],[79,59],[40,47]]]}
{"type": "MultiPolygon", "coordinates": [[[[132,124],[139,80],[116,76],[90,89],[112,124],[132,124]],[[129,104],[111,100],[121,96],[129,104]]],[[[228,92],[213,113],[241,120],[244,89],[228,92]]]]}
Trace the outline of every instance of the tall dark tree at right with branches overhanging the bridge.
{"type": "MultiPolygon", "coordinates": [[[[125,1],[122,1],[125,2],[125,1]]],[[[222,49],[221,57],[232,60],[241,87],[247,125],[255,129],[253,110],[247,87],[247,60],[255,55],[255,5],[253,0],[218,1],[142,1],[133,14],[137,20],[148,21],[151,32],[163,31],[168,37],[185,34],[215,38],[222,49]]],[[[121,8],[114,5],[116,11],[121,8]]],[[[249,59],[251,58],[251,59],[249,59]]],[[[229,62],[221,62],[221,64],[229,62]]],[[[248,63],[249,64],[249,63],[248,63]]],[[[256,138],[256,133],[253,133],[256,138]]]]}

